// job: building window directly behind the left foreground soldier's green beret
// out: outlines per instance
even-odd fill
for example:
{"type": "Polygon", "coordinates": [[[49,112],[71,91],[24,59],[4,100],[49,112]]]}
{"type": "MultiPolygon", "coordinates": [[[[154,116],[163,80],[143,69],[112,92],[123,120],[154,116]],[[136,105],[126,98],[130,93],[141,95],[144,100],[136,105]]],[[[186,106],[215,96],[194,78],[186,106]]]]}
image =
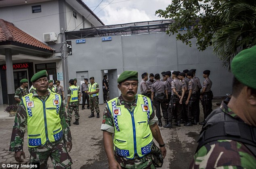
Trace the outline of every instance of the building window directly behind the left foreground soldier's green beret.
{"type": "Polygon", "coordinates": [[[48,80],[53,79],[55,84],[57,80],[56,63],[36,64],[36,72],[47,70],[48,80]]]}

